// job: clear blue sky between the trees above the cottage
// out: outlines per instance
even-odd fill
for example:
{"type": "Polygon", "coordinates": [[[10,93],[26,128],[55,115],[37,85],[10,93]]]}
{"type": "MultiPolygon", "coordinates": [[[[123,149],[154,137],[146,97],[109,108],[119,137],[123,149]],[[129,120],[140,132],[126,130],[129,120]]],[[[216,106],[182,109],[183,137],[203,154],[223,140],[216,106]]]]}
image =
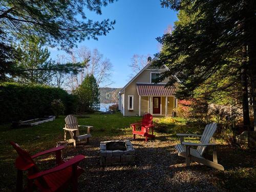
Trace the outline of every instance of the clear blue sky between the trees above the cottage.
{"type": "MultiPolygon", "coordinates": [[[[159,51],[156,37],[162,36],[168,25],[174,26],[177,13],[161,8],[159,0],[119,0],[102,8],[102,15],[87,11],[93,20],[110,18],[116,20],[114,30],[97,40],[85,40],[78,44],[88,48],[97,48],[104,57],[109,58],[112,65],[113,84],[109,87],[121,88],[132,73],[129,64],[134,54],[152,57],[159,51]]],[[[56,59],[62,51],[49,49],[51,57],[56,59]]]]}

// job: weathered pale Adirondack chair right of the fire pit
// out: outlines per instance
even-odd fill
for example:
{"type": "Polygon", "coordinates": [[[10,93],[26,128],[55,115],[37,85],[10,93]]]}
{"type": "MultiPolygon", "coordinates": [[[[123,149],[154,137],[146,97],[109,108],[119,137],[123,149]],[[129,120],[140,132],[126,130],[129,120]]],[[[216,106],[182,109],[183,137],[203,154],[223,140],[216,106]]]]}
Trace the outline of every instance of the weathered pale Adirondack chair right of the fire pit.
{"type": "Polygon", "coordinates": [[[217,160],[217,152],[216,152],[216,142],[215,139],[212,138],[214,133],[217,130],[217,123],[210,123],[205,126],[204,132],[202,135],[194,135],[194,134],[177,134],[180,137],[180,144],[175,145],[176,150],[178,151],[178,155],[186,158],[186,166],[190,165],[190,161],[196,161],[198,163],[202,163],[204,165],[224,170],[224,167],[221,164],[218,164],[217,160]],[[194,136],[201,137],[200,143],[191,143],[184,142],[184,137],[194,136]],[[212,143],[210,143],[210,139],[212,138],[212,143]],[[197,149],[190,148],[191,146],[197,146],[197,149]],[[213,147],[213,161],[206,160],[203,157],[203,154],[206,150],[207,146],[213,147]]]}

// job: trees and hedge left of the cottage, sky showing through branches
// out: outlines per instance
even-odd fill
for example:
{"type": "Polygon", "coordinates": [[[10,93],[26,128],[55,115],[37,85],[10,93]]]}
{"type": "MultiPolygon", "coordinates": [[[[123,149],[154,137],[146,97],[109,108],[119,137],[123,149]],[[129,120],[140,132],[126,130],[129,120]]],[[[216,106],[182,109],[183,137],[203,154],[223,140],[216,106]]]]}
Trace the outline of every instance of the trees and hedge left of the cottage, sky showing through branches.
{"type": "Polygon", "coordinates": [[[113,2],[2,2],[0,122],[98,108],[98,86],[108,82],[111,62],[97,49],[74,47],[113,29],[115,20],[93,22],[84,16],[89,10],[101,14],[102,6],[113,2]],[[77,18],[78,14],[81,17],[77,18]],[[64,50],[70,56],[52,60],[47,47],[64,50]],[[72,95],[60,89],[65,86],[72,95]]]}

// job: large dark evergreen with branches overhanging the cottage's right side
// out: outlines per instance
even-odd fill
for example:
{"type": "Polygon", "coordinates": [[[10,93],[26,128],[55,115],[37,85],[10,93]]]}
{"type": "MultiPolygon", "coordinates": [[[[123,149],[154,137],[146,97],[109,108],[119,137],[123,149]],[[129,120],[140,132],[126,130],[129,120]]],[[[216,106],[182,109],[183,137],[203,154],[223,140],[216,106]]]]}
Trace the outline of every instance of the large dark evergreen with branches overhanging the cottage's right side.
{"type": "MultiPolygon", "coordinates": [[[[158,65],[167,64],[169,71],[162,78],[168,76],[169,85],[176,82],[175,74],[183,83],[179,94],[189,97],[217,73],[221,81],[233,77],[223,84],[223,88],[231,87],[240,81],[239,78],[250,74],[252,90],[256,94],[256,59],[252,54],[255,53],[256,37],[255,1],[163,0],[161,4],[185,13],[188,18],[175,26],[172,35],[158,38],[164,45],[164,50],[157,54],[160,58],[158,65]],[[246,54],[242,54],[242,49],[246,54]]],[[[247,91],[244,85],[242,90],[247,91]]],[[[241,96],[246,98],[246,94],[241,96]]],[[[256,97],[253,99],[256,103],[256,97]]],[[[255,104],[253,107],[255,116],[255,104]]],[[[256,127],[256,121],[254,123],[256,127]]]]}

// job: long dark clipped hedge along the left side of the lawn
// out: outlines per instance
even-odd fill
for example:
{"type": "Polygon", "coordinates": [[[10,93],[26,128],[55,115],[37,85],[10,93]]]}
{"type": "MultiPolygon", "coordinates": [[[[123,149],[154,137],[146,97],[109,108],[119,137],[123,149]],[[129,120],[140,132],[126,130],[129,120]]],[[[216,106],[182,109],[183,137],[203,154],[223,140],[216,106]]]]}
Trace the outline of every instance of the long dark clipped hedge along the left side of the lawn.
{"type": "Polygon", "coordinates": [[[73,95],[60,88],[49,86],[23,85],[5,82],[0,84],[0,122],[27,120],[53,115],[51,102],[61,99],[66,107],[66,114],[74,112],[73,95]]]}

